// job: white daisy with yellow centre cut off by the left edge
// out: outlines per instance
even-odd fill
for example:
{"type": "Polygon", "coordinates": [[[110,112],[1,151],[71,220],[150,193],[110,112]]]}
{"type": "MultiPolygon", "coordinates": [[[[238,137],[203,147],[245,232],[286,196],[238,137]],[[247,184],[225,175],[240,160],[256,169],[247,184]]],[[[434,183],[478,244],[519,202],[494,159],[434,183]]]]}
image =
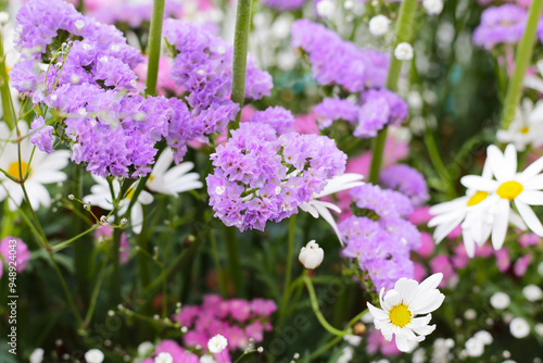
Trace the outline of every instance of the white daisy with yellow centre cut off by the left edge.
{"type": "MultiPolygon", "coordinates": [[[[58,150],[48,154],[36,148],[30,162],[30,155],[35,147],[31,145],[30,139],[25,137],[28,134],[28,126],[25,122],[20,122],[18,129],[22,137],[24,137],[21,141],[21,165],[17,143],[8,141],[16,139],[16,130],[10,130],[7,124],[0,123],[0,167],[15,178],[24,177],[28,168],[25,188],[30,204],[35,210],[40,205],[48,208],[51,205],[51,197],[43,185],[66,179],[66,174],[61,171],[68,164],[70,151],[58,150]],[[23,175],[20,174],[20,166],[23,175]]],[[[10,210],[15,211],[23,202],[24,192],[21,185],[0,173],[0,201],[5,198],[8,198],[10,210]]]]}

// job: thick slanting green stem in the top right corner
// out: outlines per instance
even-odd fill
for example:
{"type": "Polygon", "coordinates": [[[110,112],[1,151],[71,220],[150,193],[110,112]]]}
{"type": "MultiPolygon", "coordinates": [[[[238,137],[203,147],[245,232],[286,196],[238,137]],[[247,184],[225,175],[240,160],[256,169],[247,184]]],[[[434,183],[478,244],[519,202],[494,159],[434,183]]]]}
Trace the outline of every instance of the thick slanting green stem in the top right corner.
{"type": "Polygon", "coordinates": [[[538,30],[538,24],[542,11],[543,0],[533,0],[530,5],[525,34],[522,35],[522,39],[520,39],[520,43],[517,48],[517,54],[515,57],[515,71],[507,88],[507,93],[505,95],[501,124],[503,129],[509,128],[509,124],[515,118],[515,109],[520,100],[522,80],[525,79],[526,71],[528,70],[528,66],[530,66],[532,59],[535,33],[538,30]]]}

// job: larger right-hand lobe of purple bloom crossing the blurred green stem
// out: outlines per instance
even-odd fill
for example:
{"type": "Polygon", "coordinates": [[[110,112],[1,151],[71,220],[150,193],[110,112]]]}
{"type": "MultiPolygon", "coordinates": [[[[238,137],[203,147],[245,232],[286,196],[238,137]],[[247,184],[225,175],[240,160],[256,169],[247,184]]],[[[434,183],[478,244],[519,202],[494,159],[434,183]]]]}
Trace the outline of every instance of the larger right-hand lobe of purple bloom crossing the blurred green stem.
{"type": "Polygon", "coordinates": [[[384,125],[399,125],[406,117],[407,103],[400,96],[388,89],[368,90],[363,95],[354,136],[375,137],[384,125]]]}

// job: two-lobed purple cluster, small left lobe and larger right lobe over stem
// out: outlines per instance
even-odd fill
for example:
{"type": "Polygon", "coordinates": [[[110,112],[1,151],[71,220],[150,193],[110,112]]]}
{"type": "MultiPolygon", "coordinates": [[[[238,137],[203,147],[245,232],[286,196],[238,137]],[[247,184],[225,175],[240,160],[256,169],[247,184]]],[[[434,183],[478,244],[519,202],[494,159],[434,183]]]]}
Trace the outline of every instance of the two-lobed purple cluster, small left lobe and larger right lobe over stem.
{"type": "Polygon", "coordinates": [[[384,125],[399,125],[407,117],[407,103],[388,89],[367,90],[359,102],[325,98],[314,108],[319,127],[326,128],[334,120],[344,120],[354,125],[355,137],[369,138],[377,136],[384,125]]]}

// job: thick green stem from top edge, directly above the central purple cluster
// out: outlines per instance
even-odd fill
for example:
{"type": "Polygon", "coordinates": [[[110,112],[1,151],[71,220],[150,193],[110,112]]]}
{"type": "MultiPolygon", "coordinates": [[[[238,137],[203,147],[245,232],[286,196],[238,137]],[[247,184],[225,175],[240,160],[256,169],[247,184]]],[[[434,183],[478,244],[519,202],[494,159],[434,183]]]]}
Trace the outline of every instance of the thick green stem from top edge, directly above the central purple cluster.
{"type": "Polygon", "coordinates": [[[252,2],[252,0],[238,0],[238,9],[236,12],[231,100],[239,104],[240,111],[238,112],[236,122],[230,123],[230,129],[239,127],[241,109],[243,108],[243,101],[245,99],[247,51],[249,45],[252,2]]]}

